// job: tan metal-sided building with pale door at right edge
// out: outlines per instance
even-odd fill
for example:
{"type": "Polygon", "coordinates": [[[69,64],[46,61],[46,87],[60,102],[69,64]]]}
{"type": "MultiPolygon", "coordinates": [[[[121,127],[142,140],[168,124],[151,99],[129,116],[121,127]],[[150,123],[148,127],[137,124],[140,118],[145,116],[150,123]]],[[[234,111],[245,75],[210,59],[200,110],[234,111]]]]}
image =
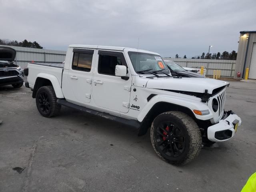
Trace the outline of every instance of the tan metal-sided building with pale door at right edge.
{"type": "Polygon", "coordinates": [[[244,78],[246,68],[250,68],[249,78],[256,79],[256,31],[240,31],[234,78],[244,78]]]}

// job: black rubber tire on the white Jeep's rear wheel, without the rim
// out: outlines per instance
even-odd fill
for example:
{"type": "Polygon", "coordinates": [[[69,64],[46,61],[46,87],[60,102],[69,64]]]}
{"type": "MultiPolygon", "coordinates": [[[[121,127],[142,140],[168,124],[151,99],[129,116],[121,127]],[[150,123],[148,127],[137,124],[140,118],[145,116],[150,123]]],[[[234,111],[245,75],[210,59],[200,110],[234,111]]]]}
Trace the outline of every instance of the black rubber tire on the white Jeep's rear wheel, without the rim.
{"type": "Polygon", "coordinates": [[[57,103],[56,94],[52,86],[43,86],[38,89],[36,92],[36,107],[44,117],[53,117],[60,113],[61,105],[57,103]],[[46,94],[48,97],[50,107],[47,112],[42,111],[40,108],[40,94],[46,94]]]}

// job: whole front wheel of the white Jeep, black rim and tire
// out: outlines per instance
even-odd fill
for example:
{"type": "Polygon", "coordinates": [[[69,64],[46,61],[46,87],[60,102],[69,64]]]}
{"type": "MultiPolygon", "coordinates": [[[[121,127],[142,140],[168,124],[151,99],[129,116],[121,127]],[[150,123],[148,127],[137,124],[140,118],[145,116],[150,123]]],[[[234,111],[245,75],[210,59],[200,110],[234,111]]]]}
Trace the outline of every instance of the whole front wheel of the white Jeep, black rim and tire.
{"type": "Polygon", "coordinates": [[[154,150],[171,164],[192,161],[202,148],[202,135],[196,122],[183,112],[164,112],[151,126],[150,137],[154,150]]]}

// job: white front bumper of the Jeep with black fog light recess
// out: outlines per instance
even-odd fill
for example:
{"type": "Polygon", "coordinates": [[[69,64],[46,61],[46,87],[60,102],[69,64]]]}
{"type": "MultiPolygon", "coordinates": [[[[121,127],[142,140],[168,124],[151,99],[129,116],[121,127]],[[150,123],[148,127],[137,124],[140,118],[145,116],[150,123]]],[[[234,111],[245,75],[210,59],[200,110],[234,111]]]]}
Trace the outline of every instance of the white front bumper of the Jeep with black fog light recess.
{"type": "Polygon", "coordinates": [[[222,142],[232,138],[235,133],[235,125],[240,126],[242,120],[234,112],[224,112],[222,120],[207,129],[207,136],[210,141],[222,142]]]}

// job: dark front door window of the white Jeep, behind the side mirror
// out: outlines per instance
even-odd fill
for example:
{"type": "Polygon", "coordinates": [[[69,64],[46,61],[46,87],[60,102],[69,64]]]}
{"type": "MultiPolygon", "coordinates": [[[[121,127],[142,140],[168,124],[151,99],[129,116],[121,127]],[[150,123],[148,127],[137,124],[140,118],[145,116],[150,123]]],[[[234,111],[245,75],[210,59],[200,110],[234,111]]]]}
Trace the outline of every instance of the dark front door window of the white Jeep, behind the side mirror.
{"type": "Polygon", "coordinates": [[[99,54],[98,73],[115,75],[116,65],[122,65],[122,61],[119,56],[99,54]]]}

